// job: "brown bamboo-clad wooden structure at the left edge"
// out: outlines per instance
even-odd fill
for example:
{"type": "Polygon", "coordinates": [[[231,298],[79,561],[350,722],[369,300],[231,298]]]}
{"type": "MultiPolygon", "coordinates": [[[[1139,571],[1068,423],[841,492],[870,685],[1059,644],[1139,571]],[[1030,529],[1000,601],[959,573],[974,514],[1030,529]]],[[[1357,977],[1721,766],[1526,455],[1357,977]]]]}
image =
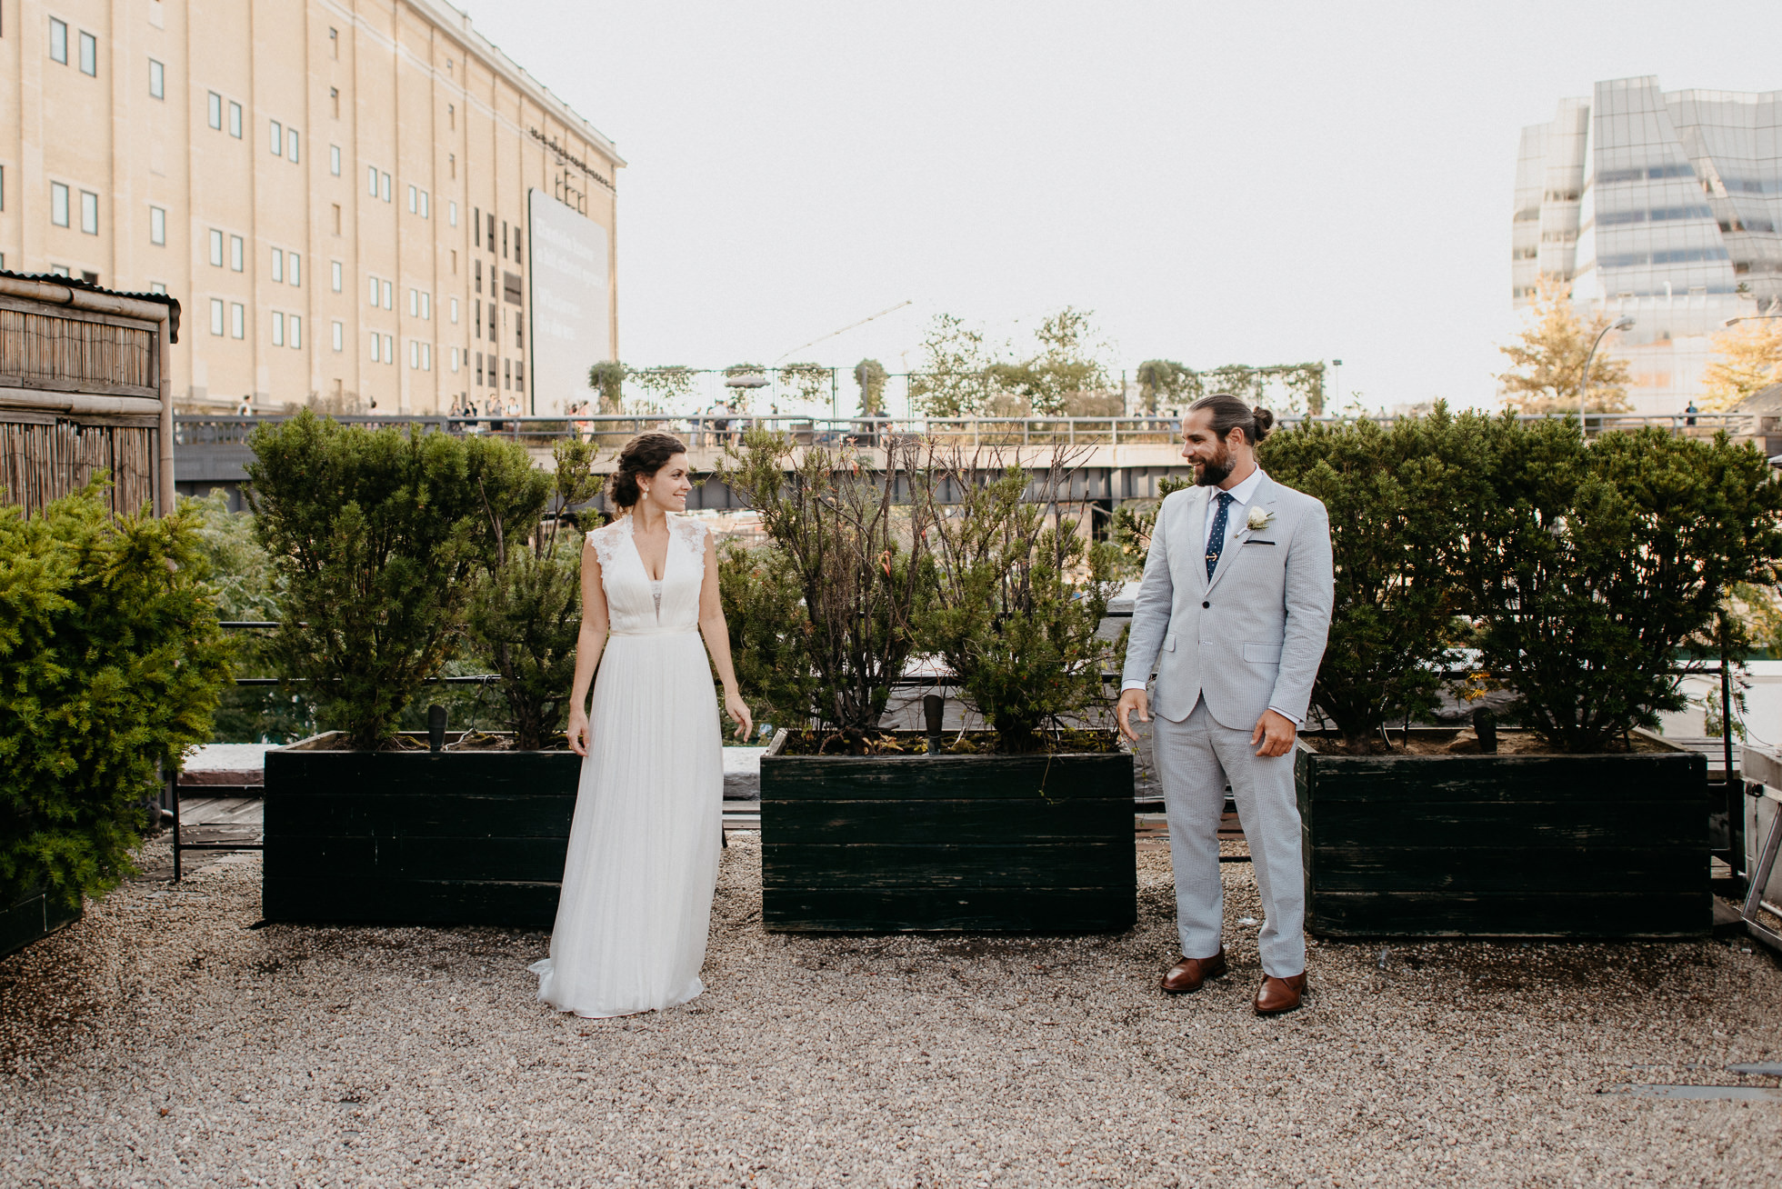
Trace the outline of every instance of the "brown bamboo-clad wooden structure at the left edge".
{"type": "Polygon", "coordinates": [[[178,333],[166,294],[0,273],[0,501],[29,517],[109,471],[114,512],[171,512],[178,333]]]}

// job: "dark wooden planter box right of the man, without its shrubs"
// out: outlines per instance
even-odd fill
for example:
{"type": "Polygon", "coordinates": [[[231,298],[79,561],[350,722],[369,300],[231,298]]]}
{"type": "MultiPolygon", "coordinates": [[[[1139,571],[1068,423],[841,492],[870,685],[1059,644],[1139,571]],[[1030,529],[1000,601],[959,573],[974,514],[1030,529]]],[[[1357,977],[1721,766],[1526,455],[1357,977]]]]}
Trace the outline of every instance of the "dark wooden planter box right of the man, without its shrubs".
{"type": "Polygon", "coordinates": [[[1696,752],[1324,756],[1301,740],[1296,774],[1312,932],[1688,938],[1713,922],[1696,752]]]}

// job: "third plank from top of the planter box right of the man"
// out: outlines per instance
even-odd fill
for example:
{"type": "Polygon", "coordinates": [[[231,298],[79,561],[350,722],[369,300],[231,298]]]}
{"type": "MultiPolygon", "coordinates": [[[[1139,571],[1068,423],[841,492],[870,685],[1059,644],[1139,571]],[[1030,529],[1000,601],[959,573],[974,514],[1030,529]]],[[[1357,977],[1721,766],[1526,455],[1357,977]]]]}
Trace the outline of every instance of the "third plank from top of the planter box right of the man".
{"type": "Polygon", "coordinates": [[[1326,891],[1700,891],[1700,847],[1320,847],[1308,886],[1326,891]]]}

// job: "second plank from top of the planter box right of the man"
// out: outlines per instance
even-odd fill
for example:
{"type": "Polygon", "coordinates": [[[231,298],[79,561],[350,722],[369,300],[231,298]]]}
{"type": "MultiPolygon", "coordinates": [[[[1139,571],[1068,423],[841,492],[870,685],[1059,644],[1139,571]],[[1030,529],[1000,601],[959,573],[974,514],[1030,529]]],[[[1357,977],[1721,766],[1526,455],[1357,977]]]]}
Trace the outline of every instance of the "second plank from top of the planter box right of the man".
{"type": "Polygon", "coordinates": [[[1315,793],[1312,840],[1329,847],[1672,847],[1707,856],[1707,799],[1648,802],[1638,809],[1600,800],[1445,802],[1408,811],[1404,802],[1338,802],[1315,793]]]}

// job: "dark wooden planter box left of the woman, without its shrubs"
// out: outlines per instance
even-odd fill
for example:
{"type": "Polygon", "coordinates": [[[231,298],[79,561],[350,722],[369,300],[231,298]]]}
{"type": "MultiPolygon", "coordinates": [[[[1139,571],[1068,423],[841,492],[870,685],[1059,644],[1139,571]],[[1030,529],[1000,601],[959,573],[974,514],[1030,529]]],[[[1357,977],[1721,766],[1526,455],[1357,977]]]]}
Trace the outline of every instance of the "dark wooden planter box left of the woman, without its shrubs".
{"type": "Polygon", "coordinates": [[[266,754],[266,920],[551,927],[581,756],[337,738],[266,754]]]}

